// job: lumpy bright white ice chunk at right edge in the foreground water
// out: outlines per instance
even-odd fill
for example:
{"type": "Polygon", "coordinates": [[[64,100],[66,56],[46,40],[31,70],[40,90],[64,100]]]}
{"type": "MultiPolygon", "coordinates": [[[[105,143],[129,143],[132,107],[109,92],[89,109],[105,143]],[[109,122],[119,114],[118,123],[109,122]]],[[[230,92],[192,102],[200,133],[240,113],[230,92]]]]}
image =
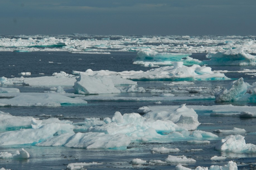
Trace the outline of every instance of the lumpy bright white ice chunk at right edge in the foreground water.
{"type": "Polygon", "coordinates": [[[215,149],[222,152],[255,153],[256,145],[245,143],[244,136],[229,135],[220,140],[215,149]]]}

